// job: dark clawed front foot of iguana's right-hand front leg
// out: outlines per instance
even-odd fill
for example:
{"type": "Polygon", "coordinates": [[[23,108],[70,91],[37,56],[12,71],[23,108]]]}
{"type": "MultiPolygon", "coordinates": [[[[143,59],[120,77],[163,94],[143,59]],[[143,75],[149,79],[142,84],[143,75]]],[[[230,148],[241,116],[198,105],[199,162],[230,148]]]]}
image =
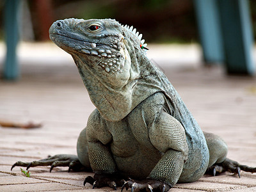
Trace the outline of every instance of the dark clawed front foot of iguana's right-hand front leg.
{"type": "Polygon", "coordinates": [[[158,180],[147,179],[147,180],[140,180],[136,182],[134,180],[128,180],[122,186],[121,191],[123,191],[124,188],[126,190],[131,188],[132,192],[134,190],[147,191],[147,192],[152,192],[152,191],[166,192],[166,191],[169,191],[170,186],[158,180]]]}

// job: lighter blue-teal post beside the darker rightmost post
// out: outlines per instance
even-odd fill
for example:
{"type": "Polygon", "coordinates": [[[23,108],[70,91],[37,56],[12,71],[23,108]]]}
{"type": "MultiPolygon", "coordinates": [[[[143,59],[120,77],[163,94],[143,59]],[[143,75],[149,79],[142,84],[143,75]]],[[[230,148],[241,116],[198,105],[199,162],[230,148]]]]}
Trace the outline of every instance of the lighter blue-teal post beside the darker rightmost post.
{"type": "Polygon", "coordinates": [[[216,0],[194,0],[205,63],[224,60],[220,17],[216,0]]]}

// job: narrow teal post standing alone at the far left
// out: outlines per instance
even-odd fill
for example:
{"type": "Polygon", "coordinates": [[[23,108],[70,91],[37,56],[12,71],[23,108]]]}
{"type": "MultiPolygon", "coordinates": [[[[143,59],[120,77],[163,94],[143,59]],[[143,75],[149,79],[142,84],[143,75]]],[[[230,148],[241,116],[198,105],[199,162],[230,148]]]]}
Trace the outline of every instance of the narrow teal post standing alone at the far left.
{"type": "Polygon", "coordinates": [[[19,77],[19,65],[16,53],[16,47],[19,42],[19,6],[20,0],[6,0],[4,4],[6,58],[3,77],[9,80],[19,77]]]}

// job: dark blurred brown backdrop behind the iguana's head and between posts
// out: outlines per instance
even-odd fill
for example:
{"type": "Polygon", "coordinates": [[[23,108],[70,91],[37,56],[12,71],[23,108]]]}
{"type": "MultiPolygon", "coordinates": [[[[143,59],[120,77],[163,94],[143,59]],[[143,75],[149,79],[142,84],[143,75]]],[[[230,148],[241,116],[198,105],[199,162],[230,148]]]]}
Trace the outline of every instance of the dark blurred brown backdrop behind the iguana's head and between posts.
{"type": "MultiPolygon", "coordinates": [[[[150,43],[198,42],[192,0],[20,0],[20,36],[25,41],[48,40],[54,20],[65,18],[111,18],[132,25],[150,43]]],[[[3,40],[3,6],[0,1],[0,39],[3,40]]],[[[256,1],[250,0],[253,31],[256,30],[256,1]]],[[[256,35],[254,33],[254,39],[256,35]]]]}

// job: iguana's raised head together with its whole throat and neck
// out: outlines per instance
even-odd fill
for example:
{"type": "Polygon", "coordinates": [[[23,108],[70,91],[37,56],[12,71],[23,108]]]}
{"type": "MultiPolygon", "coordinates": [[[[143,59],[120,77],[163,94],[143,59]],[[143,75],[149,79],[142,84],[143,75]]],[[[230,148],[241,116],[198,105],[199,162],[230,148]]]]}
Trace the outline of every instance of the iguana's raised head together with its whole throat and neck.
{"type": "Polygon", "coordinates": [[[54,22],[49,33],[72,55],[93,104],[107,120],[124,118],[152,94],[139,86],[150,61],[136,29],[113,19],[64,19],[54,22]]]}

